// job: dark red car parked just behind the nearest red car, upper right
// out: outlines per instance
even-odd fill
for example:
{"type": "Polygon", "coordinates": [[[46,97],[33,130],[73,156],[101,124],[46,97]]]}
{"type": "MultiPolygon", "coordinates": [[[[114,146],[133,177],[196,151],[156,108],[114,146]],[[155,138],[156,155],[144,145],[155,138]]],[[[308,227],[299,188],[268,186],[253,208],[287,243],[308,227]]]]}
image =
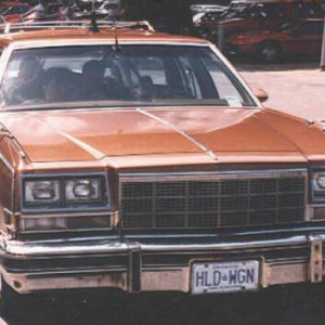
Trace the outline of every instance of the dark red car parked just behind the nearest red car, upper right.
{"type": "Polygon", "coordinates": [[[246,0],[233,1],[218,20],[203,22],[202,34],[218,42],[219,25],[223,27],[224,39],[236,32],[273,29],[282,23],[302,18],[323,18],[324,0],[246,0]]]}

